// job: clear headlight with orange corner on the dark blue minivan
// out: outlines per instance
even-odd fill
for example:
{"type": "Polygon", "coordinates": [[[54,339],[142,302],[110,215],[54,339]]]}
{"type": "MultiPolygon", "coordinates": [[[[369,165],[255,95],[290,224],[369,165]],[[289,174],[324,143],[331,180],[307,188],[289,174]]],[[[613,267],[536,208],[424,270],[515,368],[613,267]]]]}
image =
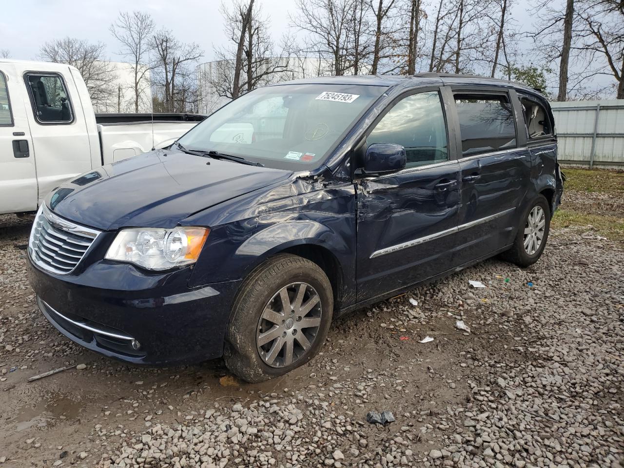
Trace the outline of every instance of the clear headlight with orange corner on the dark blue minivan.
{"type": "Polygon", "coordinates": [[[197,261],[210,229],[194,227],[122,229],[105,258],[148,270],[168,270],[197,261]]]}

